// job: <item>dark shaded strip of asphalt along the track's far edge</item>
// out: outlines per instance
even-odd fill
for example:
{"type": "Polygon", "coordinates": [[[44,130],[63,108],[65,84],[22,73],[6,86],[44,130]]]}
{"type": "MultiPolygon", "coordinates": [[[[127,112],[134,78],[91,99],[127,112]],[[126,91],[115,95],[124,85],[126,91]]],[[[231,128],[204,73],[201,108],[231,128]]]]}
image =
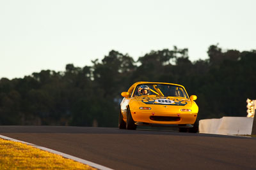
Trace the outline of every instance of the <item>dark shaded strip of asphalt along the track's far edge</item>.
{"type": "Polygon", "coordinates": [[[0,133],[68,133],[68,134],[151,134],[172,136],[200,136],[214,138],[248,138],[243,136],[226,136],[218,134],[182,133],[172,130],[137,129],[136,131],[113,127],[74,127],[74,126],[0,126],[0,133]]]}

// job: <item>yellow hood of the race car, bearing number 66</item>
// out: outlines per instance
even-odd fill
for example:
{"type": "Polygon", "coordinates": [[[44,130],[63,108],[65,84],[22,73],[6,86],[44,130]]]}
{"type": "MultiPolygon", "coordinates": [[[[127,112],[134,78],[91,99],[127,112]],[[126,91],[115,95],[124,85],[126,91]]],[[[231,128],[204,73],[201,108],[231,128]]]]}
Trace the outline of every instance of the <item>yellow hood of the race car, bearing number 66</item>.
{"type": "Polygon", "coordinates": [[[134,97],[132,100],[138,102],[138,104],[160,104],[169,106],[186,106],[191,105],[191,101],[183,97],[151,97],[140,96],[134,97]]]}

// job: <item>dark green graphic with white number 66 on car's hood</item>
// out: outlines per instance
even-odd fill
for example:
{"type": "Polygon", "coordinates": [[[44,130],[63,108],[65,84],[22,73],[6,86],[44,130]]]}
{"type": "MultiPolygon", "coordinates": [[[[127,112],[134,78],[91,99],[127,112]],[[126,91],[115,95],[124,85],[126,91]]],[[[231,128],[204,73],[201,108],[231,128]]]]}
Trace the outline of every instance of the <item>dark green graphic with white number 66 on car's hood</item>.
{"type": "Polygon", "coordinates": [[[167,97],[160,97],[160,98],[150,98],[150,97],[143,97],[141,100],[145,104],[164,104],[164,105],[174,105],[174,106],[185,106],[188,104],[186,101],[181,99],[168,99],[167,97]]]}

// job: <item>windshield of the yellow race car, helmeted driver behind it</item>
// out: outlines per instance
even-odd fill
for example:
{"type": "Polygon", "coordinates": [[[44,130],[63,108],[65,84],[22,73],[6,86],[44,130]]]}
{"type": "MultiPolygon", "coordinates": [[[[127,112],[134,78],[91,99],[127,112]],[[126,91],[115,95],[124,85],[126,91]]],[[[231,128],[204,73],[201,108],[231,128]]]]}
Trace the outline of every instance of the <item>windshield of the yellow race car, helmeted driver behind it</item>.
{"type": "Polygon", "coordinates": [[[170,84],[141,84],[135,89],[134,96],[154,95],[159,97],[188,98],[183,87],[170,84]]]}

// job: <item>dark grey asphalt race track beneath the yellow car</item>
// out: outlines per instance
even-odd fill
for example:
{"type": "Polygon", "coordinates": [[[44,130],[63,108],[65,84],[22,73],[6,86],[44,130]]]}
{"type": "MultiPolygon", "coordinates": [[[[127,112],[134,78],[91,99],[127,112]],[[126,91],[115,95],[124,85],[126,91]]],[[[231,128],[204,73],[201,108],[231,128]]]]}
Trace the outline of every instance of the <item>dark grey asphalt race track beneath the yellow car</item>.
{"type": "Polygon", "coordinates": [[[58,126],[0,126],[0,134],[112,169],[256,169],[255,138],[58,126]]]}

